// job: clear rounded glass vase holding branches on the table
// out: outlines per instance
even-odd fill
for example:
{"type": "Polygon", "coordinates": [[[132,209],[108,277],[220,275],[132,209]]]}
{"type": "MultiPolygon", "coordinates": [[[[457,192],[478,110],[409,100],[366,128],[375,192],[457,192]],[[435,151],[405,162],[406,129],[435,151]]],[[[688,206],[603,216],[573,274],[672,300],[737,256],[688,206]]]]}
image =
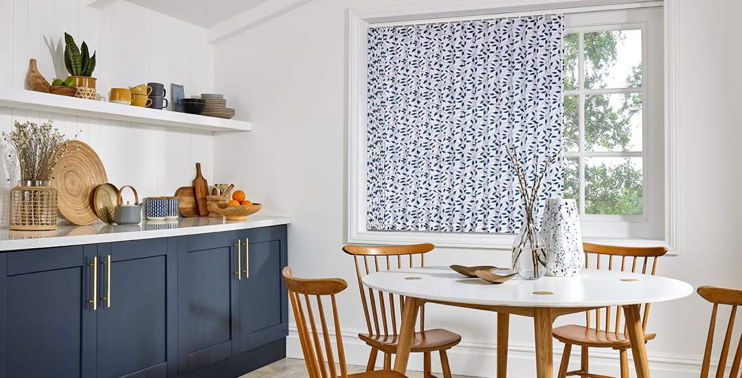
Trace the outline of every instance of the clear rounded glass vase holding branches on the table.
{"type": "Polygon", "coordinates": [[[513,271],[522,279],[542,278],[546,273],[546,243],[532,221],[513,241],[513,271]]]}

